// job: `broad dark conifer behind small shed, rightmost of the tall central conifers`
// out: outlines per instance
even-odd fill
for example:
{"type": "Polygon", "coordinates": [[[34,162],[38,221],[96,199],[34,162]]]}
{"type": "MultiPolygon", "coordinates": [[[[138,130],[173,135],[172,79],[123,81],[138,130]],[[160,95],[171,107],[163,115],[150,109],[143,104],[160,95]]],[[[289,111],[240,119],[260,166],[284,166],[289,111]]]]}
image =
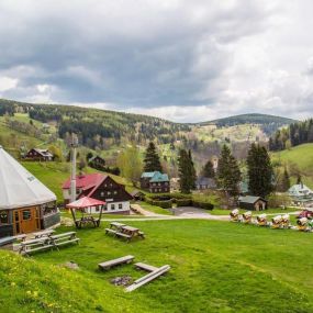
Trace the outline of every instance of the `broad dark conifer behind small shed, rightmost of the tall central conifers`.
{"type": "Polygon", "coordinates": [[[265,147],[251,144],[247,157],[249,192],[253,195],[266,197],[272,190],[273,169],[265,147]]]}

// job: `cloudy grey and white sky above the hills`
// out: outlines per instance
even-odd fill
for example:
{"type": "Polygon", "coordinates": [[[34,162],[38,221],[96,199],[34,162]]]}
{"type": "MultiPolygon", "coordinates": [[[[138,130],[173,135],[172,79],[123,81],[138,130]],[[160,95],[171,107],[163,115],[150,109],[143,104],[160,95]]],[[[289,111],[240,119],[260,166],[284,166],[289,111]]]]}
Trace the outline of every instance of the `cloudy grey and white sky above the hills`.
{"type": "Polygon", "coordinates": [[[312,0],[0,0],[0,98],[176,122],[313,115],[312,0]]]}

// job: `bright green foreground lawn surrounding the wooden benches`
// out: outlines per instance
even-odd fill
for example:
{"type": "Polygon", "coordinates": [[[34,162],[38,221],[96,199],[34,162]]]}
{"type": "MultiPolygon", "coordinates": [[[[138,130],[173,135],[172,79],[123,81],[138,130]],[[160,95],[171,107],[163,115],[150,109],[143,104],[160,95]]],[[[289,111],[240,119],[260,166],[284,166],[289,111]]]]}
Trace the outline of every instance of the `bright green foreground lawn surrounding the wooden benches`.
{"type": "Polygon", "coordinates": [[[108,223],[103,223],[98,230],[78,231],[79,246],[23,261],[5,260],[1,253],[1,308],[13,309],[4,312],[313,312],[313,234],[201,220],[130,224],[147,238],[126,244],[105,236],[108,223]],[[109,280],[144,273],[132,265],[100,272],[97,265],[130,254],[136,261],[168,264],[171,270],[125,293],[109,280]],[[80,270],[58,269],[69,260],[80,270]]]}

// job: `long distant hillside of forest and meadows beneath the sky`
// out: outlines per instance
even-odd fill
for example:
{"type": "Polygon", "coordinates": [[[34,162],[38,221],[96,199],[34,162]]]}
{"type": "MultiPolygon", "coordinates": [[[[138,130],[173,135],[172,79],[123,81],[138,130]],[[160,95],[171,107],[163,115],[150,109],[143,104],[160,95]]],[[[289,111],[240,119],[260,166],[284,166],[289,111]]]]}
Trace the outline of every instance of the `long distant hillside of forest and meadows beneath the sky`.
{"type": "Polygon", "coordinates": [[[232,147],[238,159],[253,142],[266,143],[268,133],[290,119],[246,114],[208,123],[181,124],[158,118],[72,105],[32,104],[0,100],[0,144],[19,155],[31,147],[54,145],[66,156],[66,143],[76,133],[80,146],[102,155],[115,166],[119,153],[135,144],[143,153],[154,141],[165,168],[175,175],[180,148],[191,149],[199,170],[221,145],[232,147]]]}

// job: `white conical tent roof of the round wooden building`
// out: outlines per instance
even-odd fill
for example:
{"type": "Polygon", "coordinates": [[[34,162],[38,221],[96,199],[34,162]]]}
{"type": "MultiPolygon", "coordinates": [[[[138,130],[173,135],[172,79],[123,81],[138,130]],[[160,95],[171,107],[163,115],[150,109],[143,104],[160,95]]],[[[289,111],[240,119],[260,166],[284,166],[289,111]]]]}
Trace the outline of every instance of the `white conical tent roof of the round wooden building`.
{"type": "Polygon", "coordinates": [[[56,195],[0,146],[0,210],[56,201],[56,195]]]}

